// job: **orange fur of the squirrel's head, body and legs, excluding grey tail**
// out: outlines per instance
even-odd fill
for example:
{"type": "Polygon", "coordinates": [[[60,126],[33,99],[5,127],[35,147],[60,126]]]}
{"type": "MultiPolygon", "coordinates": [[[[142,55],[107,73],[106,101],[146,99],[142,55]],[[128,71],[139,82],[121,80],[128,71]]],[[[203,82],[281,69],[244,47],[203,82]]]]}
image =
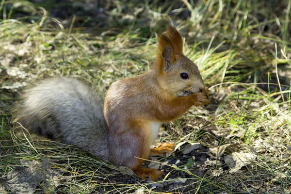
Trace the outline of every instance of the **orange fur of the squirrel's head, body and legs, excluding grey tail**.
{"type": "Polygon", "coordinates": [[[147,159],[150,153],[172,151],[172,144],[150,151],[159,125],[178,118],[192,105],[210,102],[207,99],[209,91],[197,66],[182,53],[182,38],[174,27],[170,26],[158,37],[157,55],[146,73],[114,82],[104,103],[110,161],[128,166],[138,176],[148,176],[152,180],[160,177],[162,172],[140,167],[143,160],[135,157],[147,159]],[[169,58],[165,59],[163,54],[169,58]],[[170,68],[166,69],[166,65],[170,68]],[[189,79],[181,79],[182,72],[188,73],[189,79]]]}

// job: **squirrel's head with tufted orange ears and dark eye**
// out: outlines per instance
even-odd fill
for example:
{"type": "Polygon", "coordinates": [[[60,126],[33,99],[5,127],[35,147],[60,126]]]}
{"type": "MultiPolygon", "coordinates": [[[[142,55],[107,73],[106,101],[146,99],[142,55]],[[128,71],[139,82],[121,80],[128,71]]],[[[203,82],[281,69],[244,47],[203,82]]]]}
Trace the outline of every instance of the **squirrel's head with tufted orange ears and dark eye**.
{"type": "Polygon", "coordinates": [[[182,37],[175,27],[159,35],[157,55],[158,81],[168,94],[181,97],[203,91],[198,67],[183,55],[182,37]]]}

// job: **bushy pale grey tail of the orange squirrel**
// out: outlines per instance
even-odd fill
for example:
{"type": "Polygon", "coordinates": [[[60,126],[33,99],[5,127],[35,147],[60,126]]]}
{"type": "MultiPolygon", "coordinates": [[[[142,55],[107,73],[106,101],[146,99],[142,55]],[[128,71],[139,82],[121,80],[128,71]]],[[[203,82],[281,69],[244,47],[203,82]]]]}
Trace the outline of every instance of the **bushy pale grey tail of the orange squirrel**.
{"type": "Polygon", "coordinates": [[[16,111],[16,121],[31,132],[109,158],[103,106],[80,81],[41,81],[26,92],[16,111]]]}

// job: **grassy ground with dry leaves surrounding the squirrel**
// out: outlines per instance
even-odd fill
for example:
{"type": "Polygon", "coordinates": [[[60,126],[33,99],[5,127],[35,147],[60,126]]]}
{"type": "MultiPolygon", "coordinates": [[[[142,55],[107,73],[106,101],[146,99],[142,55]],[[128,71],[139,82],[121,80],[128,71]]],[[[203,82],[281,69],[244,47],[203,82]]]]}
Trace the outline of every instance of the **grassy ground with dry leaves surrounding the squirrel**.
{"type": "Polygon", "coordinates": [[[31,170],[36,193],[291,193],[290,8],[291,0],[1,0],[0,191],[31,170]],[[161,179],[13,129],[12,110],[35,81],[73,77],[104,96],[149,68],[168,24],[211,103],[162,125],[156,145],[178,146],[146,162],[161,179]]]}

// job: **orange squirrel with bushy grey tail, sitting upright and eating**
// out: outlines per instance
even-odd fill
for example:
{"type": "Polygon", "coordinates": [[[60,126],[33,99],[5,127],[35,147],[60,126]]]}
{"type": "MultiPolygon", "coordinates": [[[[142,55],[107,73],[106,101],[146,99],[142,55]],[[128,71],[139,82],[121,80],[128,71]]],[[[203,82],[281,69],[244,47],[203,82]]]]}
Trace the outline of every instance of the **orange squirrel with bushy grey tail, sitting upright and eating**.
{"type": "Polygon", "coordinates": [[[177,29],[169,26],[157,42],[156,61],[142,75],[113,82],[104,108],[100,97],[81,81],[49,78],[26,91],[16,121],[30,132],[156,180],[162,172],[141,164],[149,155],[174,150],[172,143],[150,149],[162,123],[177,119],[193,105],[210,103],[198,67],[183,55],[177,29]]]}

